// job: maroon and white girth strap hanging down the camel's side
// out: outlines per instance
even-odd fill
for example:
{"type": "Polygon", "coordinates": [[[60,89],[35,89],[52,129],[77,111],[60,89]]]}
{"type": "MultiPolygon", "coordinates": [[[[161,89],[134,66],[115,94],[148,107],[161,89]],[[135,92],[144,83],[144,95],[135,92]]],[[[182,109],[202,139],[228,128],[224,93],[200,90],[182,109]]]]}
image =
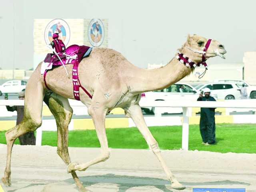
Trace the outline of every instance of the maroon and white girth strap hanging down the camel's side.
{"type": "Polygon", "coordinates": [[[73,80],[73,91],[74,91],[74,98],[80,101],[80,94],[79,88],[82,88],[84,92],[92,98],[92,95],[81,85],[79,78],[78,78],[78,64],[79,62],[76,60],[73,64],[73,73],[72,73],[72,80],[73,80]]]}

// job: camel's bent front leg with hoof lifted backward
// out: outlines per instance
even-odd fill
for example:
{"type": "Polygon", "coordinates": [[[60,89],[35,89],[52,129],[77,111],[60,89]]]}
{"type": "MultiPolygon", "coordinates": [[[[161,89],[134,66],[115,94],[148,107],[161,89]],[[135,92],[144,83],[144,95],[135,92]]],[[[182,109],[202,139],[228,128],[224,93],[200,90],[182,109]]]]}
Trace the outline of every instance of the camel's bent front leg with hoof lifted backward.
{"type": "Polygon", "coordinates": [[[93,102],[92,105],[88,108],[89,114],[92,116],[92,120],[96,129],[96,133],[98,136],[98,139],[100,141],[100,147],[101,147],[101,155],[97,158],[94,158],[93,160],[87,162],[87,163],[75,163],[72,162],[68,165],[68,172],[78,170],[78,171],[84,171],[89,166],[106,161],[110,157],[110,152],[108,149],[108,140],[106,136],[106,128],[105,128],[105,117],[106,117],[106,109],[103,108],[103,106],[99,106],[98,102],[93,102]]]}

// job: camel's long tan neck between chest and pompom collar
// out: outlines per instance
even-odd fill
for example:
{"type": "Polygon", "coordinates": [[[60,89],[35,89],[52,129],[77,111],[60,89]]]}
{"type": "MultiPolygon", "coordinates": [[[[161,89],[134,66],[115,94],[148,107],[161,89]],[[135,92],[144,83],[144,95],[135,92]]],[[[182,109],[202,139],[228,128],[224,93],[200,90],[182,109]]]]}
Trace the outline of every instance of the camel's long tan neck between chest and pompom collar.
{"type": "MultiPolygon", "coordinates": [[[[176,56],[176,55],[175,55],[176,56]]],[[[181,64],[174,57],[166,66],[157,69],[140,69],[136,76],[138,77],[132,86],[132,92],[140,93],[152,90],[164,89],[192,72],[192,68],[181,64]]]]}

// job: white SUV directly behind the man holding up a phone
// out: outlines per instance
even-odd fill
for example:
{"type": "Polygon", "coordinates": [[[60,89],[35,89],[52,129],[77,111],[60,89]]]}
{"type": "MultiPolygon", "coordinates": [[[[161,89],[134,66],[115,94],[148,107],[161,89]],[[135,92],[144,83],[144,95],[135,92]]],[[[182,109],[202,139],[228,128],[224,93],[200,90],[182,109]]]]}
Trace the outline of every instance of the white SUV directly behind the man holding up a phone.
{"type": "Polygon", "coordinates": [[[200,92],[204,88],[211,90],[211,95],[217,95],[218,99],[240,99],[240,87],[235,83],[228,82],[214,82],[207,84],[200,84],[196,86],[197,92],[200,92]]]}

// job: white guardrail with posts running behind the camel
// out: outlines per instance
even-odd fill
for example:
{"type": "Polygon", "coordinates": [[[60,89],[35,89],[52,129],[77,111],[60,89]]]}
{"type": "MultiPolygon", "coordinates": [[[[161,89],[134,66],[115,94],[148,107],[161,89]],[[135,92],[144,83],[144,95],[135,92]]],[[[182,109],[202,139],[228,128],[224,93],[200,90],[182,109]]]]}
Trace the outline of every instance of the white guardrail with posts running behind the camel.
{"type": "MultiPolygon", "coordinates": [[[[69,100],[70,106],[83,106],[82,102],[69,100]]],[[[24,105],[24,100],[0,100],[0,105],[24,105]]],[[[46,105],[44,103],[44,105],[46,105]]],[[[192,107],[204,108],[256,108],[256,99],[247,100],[225,100],[225,101],[189,101],[189,100],[173,100],[173,101],[154,101],[144,104],[141,107],[155,107],[155,116],[161,116],[158,113],[158,107],[182,107],[183,123],[182,123],[182,149],[188,150],[188,134],[189,134],[189,116],[191,116],[192,107]]],[[[42,128],[36,130],[36,145],[41,145],[42,128]]]]}

